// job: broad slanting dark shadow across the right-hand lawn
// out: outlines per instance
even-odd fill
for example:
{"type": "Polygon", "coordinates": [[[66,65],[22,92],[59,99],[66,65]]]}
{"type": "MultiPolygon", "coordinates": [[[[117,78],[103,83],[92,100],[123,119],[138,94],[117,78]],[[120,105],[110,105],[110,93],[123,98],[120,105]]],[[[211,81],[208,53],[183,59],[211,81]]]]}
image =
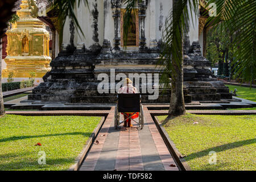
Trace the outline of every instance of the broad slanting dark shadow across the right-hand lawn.
{"type": "Polygon", "coordinates": [[[242,141],[233,142],[233,143],[222,144],[221,146],[208,148],[208,149],[202,150],[200,152],[195,152],[195,153],[189,154],[185,157],[185,160],[188,161],[188,160],[192,160],[192,159],[195,159],[195,158],[201,158],[203,156],[207,156],[209,154],[209,151],[221,152],[221,151],[241,147],[241,146],[244,146],[246,144],[252,144],[252,143],[256,143],[256,138],[248,139],[248,140],[242,140],[242,141]]]}

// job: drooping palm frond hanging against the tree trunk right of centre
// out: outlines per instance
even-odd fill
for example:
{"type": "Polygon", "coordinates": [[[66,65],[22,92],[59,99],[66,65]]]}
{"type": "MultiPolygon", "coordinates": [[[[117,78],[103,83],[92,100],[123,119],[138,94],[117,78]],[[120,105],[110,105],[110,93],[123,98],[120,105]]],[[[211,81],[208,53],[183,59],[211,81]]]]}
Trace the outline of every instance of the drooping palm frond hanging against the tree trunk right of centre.
{"type": "Polygon", "coordinates": [[[158,61],[158,67],[162,69],[160,84],[163,88],[170,87],[170,78],[175,82],[175,77],[182,72],[183,34],[187,31],[189,13],[192,19],[199,14],[196,0],[176,1],[166,18],[162,51],[158,61]]]}

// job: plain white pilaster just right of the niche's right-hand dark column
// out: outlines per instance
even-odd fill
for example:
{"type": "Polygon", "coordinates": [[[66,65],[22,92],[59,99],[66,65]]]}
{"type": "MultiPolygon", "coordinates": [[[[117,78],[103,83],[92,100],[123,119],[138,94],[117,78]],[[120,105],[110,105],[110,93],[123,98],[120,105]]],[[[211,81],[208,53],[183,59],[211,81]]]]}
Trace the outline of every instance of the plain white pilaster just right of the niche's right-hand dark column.
{"type": "Polygon", "coordinates": [[[156,23],[155,23],[155,1],[150,1],[150,49],[157,49],[158,43],[156,42],[156,23]]]}

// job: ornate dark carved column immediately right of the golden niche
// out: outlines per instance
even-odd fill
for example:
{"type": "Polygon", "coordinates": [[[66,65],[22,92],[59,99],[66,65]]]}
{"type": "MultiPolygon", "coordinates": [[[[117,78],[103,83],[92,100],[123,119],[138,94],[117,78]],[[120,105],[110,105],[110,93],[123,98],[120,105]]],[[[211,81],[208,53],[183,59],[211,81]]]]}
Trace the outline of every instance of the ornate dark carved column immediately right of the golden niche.
{"type": "Polygon", "coordinates": [[[147,5],[145,1],[138,3],[139,6],[139,49],[144,49],[146,45],[145,38],[145,17],[147,5]]]}

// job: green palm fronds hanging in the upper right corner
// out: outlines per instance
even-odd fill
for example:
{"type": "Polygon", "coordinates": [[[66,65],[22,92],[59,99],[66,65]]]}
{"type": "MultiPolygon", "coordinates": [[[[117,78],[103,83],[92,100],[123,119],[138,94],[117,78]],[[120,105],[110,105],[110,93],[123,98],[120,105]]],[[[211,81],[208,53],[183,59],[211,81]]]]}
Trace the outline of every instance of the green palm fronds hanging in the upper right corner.
{"type": "Polygon", "coordinates": [[[252,83],[256,78],[256,1],[210,0],[210,3],[216,4],[217,16],[209,17],[208,23],[214,27],[221,24],[230,35],[236,34],[231,42],[236,59],[232,63],[234,76],[252,83]]]}

